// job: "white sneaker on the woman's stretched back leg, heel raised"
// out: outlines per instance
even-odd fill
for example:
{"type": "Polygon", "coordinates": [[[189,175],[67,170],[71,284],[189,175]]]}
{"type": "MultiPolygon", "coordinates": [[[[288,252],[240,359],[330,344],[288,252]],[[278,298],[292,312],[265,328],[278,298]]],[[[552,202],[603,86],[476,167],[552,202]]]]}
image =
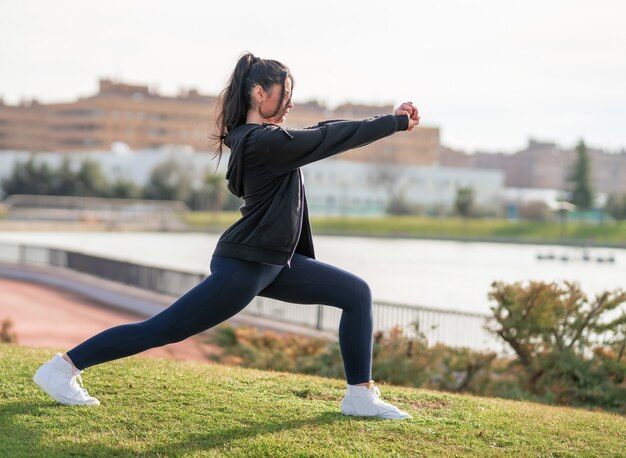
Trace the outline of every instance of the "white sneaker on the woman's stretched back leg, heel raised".
{"type": "Polygon", "coordinates": [[[100,401],[89,396],[83,388],[82,370],[75,369],[57,353],[44,363],[35,375],[33,381],[48,393],[55,401],[73,406],[97,406],[100,401]],[[76,383],[80,381],[80,386],[76,383]]]}

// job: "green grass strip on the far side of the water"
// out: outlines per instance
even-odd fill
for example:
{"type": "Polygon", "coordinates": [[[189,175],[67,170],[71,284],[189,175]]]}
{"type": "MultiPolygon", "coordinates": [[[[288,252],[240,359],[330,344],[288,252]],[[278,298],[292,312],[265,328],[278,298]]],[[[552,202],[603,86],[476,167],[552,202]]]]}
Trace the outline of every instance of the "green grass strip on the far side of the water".
{"type": "MultiPolygon", "coordinates": [[[[185,220],[193,230],[223,231],[240,217],[236,212],[189,212],[185,220]]],[[[388,237],[449,238],[536,243],[585,243],[626,246],[626,221],[592,224],[570,221],[507,221],[505,219],[428,218],[421,216],[322,217],[311,216],[315,234],[388,237]]]]}

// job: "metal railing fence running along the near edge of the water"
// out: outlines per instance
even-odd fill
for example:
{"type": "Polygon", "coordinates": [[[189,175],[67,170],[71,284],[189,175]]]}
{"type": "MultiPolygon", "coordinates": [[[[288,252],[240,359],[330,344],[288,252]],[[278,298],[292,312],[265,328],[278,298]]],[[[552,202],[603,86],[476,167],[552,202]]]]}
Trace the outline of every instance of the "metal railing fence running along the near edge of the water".
{"type": "MultiPolygon", "coordinates": [[[[171,296],[182,296],[206,277],[203,273],[11,243],[0,243],[0,262],[63,267],[171,296]]],[[[373,310],[377,331],[400,326],[410,336],[423,333],[429,345],[442,343],[451,347],[495,351],[500,356],[512,354],[506,344],[485,329],[486,314],[381,301],[374,301],[373,310]]],[[[257,296],[242,313],[331,332],[337,332],[341,319],[341,310],[335,307],[292,304],[261,296],[257,296]]]]}

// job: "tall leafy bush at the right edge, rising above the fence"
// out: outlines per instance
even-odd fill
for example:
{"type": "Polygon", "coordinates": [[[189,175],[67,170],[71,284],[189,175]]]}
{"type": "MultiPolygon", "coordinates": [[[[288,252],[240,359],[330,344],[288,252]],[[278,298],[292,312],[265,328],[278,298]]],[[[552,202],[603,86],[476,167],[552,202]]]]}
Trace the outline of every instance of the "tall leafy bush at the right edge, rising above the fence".
{"type": "Polygon", "coordinates": [[[577,283],[494,282],[487,328],[517,355],[520,387],[540,399],[626,412],[626,292],[589,301],[577,283]]]}

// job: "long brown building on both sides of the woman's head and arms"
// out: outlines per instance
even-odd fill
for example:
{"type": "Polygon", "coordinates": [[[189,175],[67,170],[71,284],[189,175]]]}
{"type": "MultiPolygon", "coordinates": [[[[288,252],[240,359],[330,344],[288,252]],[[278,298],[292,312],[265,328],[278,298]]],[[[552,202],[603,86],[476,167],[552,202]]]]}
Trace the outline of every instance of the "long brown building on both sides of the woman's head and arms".
{"type": "MultiPolygon", "coordinates": [[[[147,86],[99,81],[97,94],[73,102],[37,101],[6,105],[0,99],[1,150],[108,151],[114,142],[133,150],[188,145],[215,151],[213,104],[216,98],[195,89],[176,97],[147,86]]],[[[296,104],[287,127],[307,127],[327,119],[363,119],[392,113],[393,107],[346,104],[334,111],[317,102],[296,104]]],[[[346,152],[343,159],[428,165],[437,161],[439,129],[420,127],[346,152]]]]}

